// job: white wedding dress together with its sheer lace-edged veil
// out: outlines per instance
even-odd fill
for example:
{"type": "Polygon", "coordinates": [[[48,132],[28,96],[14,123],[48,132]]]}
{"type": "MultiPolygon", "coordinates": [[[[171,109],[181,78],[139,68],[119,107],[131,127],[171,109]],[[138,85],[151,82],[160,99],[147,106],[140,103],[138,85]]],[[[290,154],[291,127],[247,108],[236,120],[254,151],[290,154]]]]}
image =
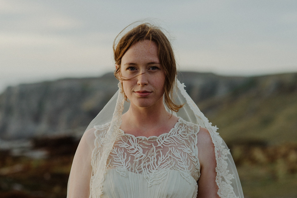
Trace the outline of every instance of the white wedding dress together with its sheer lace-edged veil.
{"type": "MultiPolygon", "coordinates": [[[[209,132],[216,159],[217,194],[243,198],[238,173],[225,142],[178,80],[172,98],[184,104],[179,120],[159,137],[135,137],[120,129],[129,103],[119,90],[89,124],[75,153],[68,197],[192,198],[200,177],[200,126],[209,132]],[[95,141],[94,141],[95,140],[95,141]]],[[[169,111],[170,112],[170,111],[169,111]]]]}

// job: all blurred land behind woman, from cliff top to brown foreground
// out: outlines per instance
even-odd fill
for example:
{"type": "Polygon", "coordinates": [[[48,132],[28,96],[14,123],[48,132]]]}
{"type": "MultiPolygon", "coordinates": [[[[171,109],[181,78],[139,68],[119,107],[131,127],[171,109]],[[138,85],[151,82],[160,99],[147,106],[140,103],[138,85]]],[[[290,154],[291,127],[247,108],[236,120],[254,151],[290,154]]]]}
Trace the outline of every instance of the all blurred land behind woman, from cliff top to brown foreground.
{"type": "MultiPolygon", "coordinates": [[[[297,73],[179,79],[219,128],[244,196],[297,197],[297,73]]],[[[66,197],[80,137],[116,90],[112,74],[8,87],[0,95],[0,198],[66,197]]]]}

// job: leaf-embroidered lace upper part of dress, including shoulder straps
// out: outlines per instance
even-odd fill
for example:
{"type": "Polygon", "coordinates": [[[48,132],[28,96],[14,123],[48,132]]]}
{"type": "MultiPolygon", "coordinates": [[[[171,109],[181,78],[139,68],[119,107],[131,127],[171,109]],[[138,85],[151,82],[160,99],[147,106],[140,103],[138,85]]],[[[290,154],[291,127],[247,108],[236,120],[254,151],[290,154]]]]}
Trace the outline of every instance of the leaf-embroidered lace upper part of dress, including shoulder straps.
{"type": "MultiPolygon", "coordinates": [[[[92,154],[93,175],[100,174],[96,171],[97,164],[100,160],[101,149],[105,143],[104,136],[108,128],[109,123],[95,126],[96,140],[92,154]]],[[[175,179],[181,178],[179,181],[184,182],[186,186],[194,187],[192,189],[194,194],[191,195],[194,197],[197,193],[196,181],[200,176],[197,149],[198,132],[198,125],[179,118],[174,128],[158,137],[135,137],[124,133],[123,136],[116,139],[110,152],[106,174],[117,174],[118,178],[124,180],[125,178],[131,179],[131,177],[140,176],[141,178],[133,180],[140,179],[141,181],[138,183],[145,182],[147,188],[155,188],[164,182],[168,183],[172,180],[169,178],[174,175],[175,179]]],[[[109,182],[106,177],[105,180],[109,182]]]]}

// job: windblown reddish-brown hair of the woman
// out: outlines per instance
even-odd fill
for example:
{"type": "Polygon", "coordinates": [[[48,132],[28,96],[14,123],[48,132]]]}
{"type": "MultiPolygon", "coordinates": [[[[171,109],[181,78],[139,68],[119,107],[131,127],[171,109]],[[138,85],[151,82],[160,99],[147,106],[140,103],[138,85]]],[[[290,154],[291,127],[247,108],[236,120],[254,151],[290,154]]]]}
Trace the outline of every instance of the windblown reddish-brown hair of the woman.
{"type": "MultiPolygon", "coordinates": [[[[130,24],[127,27],[131,27],[134,23],[130,24]]],[[[113,50],[114,50],[114,61],[118,68],[114,71],[114,76],[119,80],[129,80],[129,79],[122,79],[120,76],[120,69],[121,69],[121,60],[127,50],[135,43],[143,40],[150,40],[155,42],[158,46],[158,55],[159,60],[164,69],[166,77],[165,77],[165,84],[164,84],[164,99],[167,107],[174,112],[178,112],[183,105],[177,105],[172,101],[172,91],[173,86],[176,83],[176,63],[174,58],[173,49],[168,38],[165,34],[161,31],[159,27],[156,27],[150,23],[142,23],[133,27],[130,31],[124,34],[120,40],[116,43],[118,38],[123,34],[123,32],[127,29],[124,28],[118,36],[115,38],[113,43],[113,50]]],[[[125,95],[125,99],[127,97],[125,95]]]]}

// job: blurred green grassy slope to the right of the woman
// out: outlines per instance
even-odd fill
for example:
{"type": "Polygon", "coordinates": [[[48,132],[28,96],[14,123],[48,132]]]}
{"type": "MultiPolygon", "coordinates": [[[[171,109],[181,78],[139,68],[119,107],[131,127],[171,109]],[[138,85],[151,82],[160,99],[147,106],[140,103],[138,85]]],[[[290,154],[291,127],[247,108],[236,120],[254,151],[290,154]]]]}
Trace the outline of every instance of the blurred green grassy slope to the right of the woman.
{"type": "Polygon", "coordinates": [[[200,103],[200,109],[216,104],[216,110],[205,114],[226,142],[297,143],[297,75],[258,77],[253,81],[250,87],[240,87],[221,101],[213,98],[200,103]],[[272,78],[280,85],[270,91],[272,78]]]}

